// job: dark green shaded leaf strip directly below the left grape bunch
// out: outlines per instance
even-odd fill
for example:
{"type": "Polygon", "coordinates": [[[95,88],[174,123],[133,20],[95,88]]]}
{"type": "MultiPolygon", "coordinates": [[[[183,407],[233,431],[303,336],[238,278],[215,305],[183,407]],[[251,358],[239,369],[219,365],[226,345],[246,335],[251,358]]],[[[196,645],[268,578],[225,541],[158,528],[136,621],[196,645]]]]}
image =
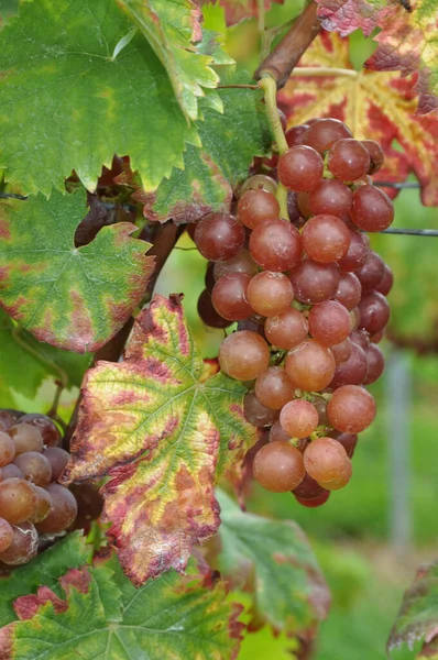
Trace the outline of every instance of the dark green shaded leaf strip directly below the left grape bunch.
{"type": "Polygon", "coordinates": [[[88,561],[89,554],[90,549],[81,532],[74,531],[64,539],[58,539],[52,548],[35,557],[28,564],[15,566],[10,573],[1,575],[0,627],[7,626],[17,618],[13,608],[15,598],[31,593],[35,594],[41,585],[56,591],[57,580],[68,570],[84,565],[88,561]]]}

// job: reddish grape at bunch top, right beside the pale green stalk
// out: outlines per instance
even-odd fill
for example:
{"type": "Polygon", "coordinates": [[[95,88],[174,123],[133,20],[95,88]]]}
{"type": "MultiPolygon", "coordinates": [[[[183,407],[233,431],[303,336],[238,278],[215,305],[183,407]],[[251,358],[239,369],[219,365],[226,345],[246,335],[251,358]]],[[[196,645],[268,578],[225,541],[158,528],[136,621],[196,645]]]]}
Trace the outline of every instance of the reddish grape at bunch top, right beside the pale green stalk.
{"type": "Polygon", "coordinates": [[[310,146],[292,146],[278,158],[278,180],[297,193],[308,193],[321,180],[324,162],[310,146]]]}

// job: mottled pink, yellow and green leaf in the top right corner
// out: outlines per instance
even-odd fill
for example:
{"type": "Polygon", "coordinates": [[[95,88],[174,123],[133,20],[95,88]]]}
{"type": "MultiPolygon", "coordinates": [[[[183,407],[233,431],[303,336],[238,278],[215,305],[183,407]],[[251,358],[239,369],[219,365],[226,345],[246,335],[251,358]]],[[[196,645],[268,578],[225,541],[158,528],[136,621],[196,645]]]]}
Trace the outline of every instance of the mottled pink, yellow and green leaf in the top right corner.
{"type": "Polygon", "coordinates": [[[418,114],[438,108],[438,3],[436,0],[413,0],[412,11],[396,4],[390,15],[380,21],[382,31],[374,37],[379,47],[365,62],[376,72],[402,72],[403,76],[418,72],[418,114]]]}

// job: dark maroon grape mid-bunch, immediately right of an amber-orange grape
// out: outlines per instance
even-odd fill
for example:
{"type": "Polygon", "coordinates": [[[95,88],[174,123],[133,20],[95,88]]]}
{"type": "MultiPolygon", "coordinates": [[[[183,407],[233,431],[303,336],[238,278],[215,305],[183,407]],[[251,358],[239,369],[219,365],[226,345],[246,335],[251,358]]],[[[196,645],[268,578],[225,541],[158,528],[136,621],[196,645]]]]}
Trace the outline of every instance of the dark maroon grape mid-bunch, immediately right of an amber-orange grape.
{"type": "Polygon", "coordinates": [[[320,264],[306,258],[289,273],[294,296],[305,305],[317,305],[332,298],[339,286],[336,264],[320,264]]]}

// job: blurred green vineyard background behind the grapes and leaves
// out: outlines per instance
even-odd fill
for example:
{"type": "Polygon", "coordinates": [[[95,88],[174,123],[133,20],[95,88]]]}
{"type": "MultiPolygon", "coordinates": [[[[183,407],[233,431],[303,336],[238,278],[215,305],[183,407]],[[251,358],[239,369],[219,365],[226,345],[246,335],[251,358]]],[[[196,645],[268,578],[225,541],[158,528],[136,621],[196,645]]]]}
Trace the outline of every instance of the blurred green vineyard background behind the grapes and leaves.
{"type": "MultiPolygon", "coordinates": [[[[208,28],[225,31],[223,11],[204,7],[208,28]]],[[[286,0],[273,6],[266,14],[266,25],[291,19],[299,3],[286,0]]],[[[351,40],[351,57],[360,67],[373,50],[370,40],[359,34],[351,40]]],[[[253,70],[259,62],[260,38],[255,20],[244,21],[227,31],[226,45],[238,66],[253,70]]],[[[372,139],[372,135],[370,135],[372,139]]],[[[421,206],[417,190],[404,190],[395,201],[394,227],[436,228],[437,209],[421,206]]],[[[438,238],[377,235],[374,248],[395,273],[395,287],[388,299],[393,307],[392,327],[403,336],[430,338],[437,332],[438,319],[438,238]]],[[[198,319],[196,305],[204,288],[206,262],[184,234],[167,262],[157,285],[165,295],[184,292],[189,323],[205,356],[215,356],[223,338],[221,331],[205,328],[198,319]]],[[[418,356],[395,350],[388,342],[382,348],[388,361],[404,366],[409,383],[405,406],[408,449],[406,504],[403,505],[408,531],[405,541],[394,535],[394,502],[391,484],[397,480],[390,437],[394,419],[391,408],[399,396],[388,381],[373,386],[379,415],[359,441],[353,460],[353,479],[347,488],[335,493],[319,509],[300,507],[288,495],[270,494],[253,488],[248,508],[278,518],[297,520],[309,535],[320,560],[333,604],[327,622],[321,625],[315,645],[315,660],[380,660],[386,658],[385,642],[395,619],[404,590],[421,562],[438,557],[438,356],[418,356]]],[[[45,385],[40,393],[40,407],[46,410],[53,389],[45,385]]],[[[63,410],[68,410],[77,392],[63,396],[63,410]]],[[[35,402],[15,395],[17,407],[35,410],[35,402]]],[[[398,503],[399,505],[401,503],[398,503]]],[[[292,660],[295,640],[275,638],[266,628],[249,636],[239,660],[292,660]]],[[[402,649],[395,660],[414,658],[402,649]]]]}

